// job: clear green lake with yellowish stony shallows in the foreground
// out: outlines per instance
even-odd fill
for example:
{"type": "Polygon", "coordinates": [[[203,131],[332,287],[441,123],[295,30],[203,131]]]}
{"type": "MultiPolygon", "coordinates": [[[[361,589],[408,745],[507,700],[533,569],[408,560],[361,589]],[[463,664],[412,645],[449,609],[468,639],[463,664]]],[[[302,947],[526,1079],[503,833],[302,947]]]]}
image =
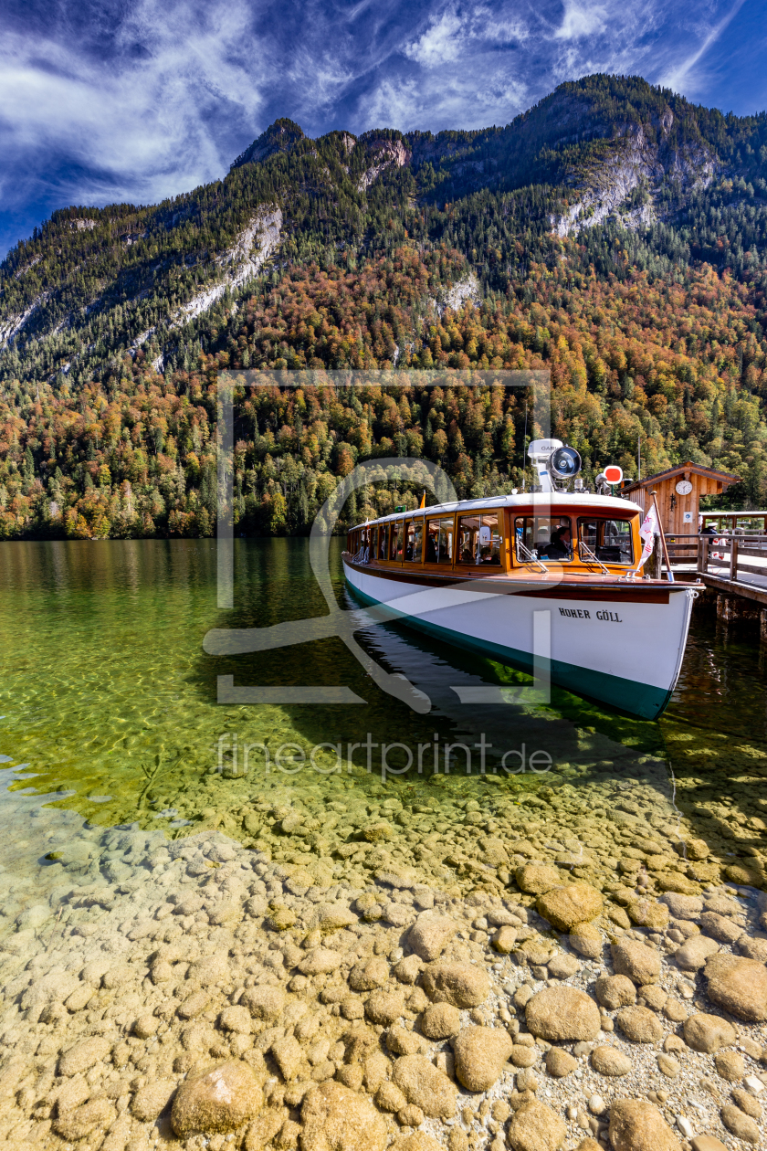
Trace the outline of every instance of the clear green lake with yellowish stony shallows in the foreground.
{"type": "MultiPolygon", "coordinates": [[[[331,588],[352,610],[340,551],[333,540],[331,588]]],[[[413,1023],[423,956],[480,981],[461,1027],[512,1035],[534,996],[593,996],[621,939],[662,960],[659,1034],[693,1000],[715,1009],[670,960],[704,904],[723,913],[726,950],[767,960],[758,637],[695,615],[672,704],[650,723],[558,689],[546,701],[522,673],[370,620],[356,655],[332,633],[208,655],[214,628],[289,625],[271,634],[290,640],[328,617],[306,540],[237,540],[233,572],[225,609],[212,540],[0,546],[0,1148],[224,1148],[246,1120],[248,1146],[279,1130],[289,1148],[301,1100],[331,1080],[361,1092],[366,1122],[407,1134],[422,1111],[381,1119],[350,1028],[389,1052],[382,1074],[411,1047],[452,1074],[450,1042],[429,1047],[413,1023]],[[416,709],[376,666],[409,681],[416,709]],[[296,685],[355,702],[290,701],[296,685]],[[392,994],[368,996],[386,980],[392,994]],[[384,1034],[398,1012],[405,1026],[384,1034]],[[235,1078],[251,1068],[263,1113],[178,1142],[169,1100],[212,1059],[235,1078]]],[[[761,1074],[759,1029],[738,1026],[761,1074]]],[[[688,1113],[685,1076],[661,1074],[614,1013],[599,1027],[634,1078],[582,1059],[584,1098],[652,1088],[668,1122],[688,1113]]],[[[476,1145],[493,1099],[522,1090],[516,1067],[499,1075],[484,1111],[460,1088],[455,1121],[476,1145]]],[[[565,1115],[572,1082],[544,1075],[539,1097],[565,1115]]],[[[696,1106],[723,1135],[712,1097],[696,1106]]]]}

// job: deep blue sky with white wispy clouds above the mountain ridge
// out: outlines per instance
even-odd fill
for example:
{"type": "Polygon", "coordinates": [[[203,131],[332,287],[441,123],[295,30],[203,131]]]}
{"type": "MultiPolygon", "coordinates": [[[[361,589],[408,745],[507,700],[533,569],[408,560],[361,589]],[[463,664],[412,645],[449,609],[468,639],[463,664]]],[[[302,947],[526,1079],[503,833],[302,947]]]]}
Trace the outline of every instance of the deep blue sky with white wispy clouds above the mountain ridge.
{"type": "Polygon", "coordinates": [[[507,123],[566,79],[632,73],[767,107],[766,0],[2,0],[0,257],[55,207],[224,175],[277,116],[507,123]]]}

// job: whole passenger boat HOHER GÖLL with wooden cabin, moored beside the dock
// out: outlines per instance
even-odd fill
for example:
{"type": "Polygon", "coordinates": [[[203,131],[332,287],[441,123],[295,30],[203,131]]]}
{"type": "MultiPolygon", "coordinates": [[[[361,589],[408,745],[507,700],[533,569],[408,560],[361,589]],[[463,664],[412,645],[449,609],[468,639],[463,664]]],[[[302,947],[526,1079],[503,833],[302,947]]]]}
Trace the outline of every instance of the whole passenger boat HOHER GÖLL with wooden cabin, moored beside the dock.
{"type": "Polygon", "coordinates": [[[344,574],[363,602],[523,671],[539,666],[536,631],[549,634],[552,684],[653,719],[676,685],[697,592],[641,574],[642,514],[553,485],[398,512],[348,532],[344,574]]]}

